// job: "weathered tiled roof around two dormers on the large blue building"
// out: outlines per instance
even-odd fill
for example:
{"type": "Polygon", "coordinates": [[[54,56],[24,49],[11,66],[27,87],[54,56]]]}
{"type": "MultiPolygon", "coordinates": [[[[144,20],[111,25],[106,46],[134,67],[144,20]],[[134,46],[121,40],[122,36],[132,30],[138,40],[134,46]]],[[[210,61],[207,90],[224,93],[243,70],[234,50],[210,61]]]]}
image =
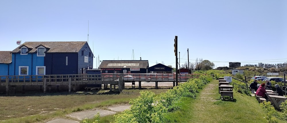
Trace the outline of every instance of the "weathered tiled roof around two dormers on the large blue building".
{"type": "Polygon", "coordinates": [[[47,52],[79,52],[79,50],[84,46],[86,42],[25,42],[18,46],[12,52],[20,52],[20,48],[24,45],[32,50],[28,50],[29,53],[37,51],[39,45],[48,48],[47,52]]]}

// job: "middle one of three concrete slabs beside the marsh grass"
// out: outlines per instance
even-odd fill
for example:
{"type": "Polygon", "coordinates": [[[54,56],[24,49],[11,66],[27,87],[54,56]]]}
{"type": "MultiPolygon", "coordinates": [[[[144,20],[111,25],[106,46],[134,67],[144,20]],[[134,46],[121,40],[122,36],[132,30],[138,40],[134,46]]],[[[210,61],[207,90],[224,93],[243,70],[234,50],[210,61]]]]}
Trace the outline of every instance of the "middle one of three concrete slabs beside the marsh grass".
{"type": "Polygon", "coordinates": [[[69,114],[67,116],[77,118],[79,120],[84,120],[85,118],[92,119],[94,118],[94,115],[96,115],[98,112],[100,112],[100,116],[106,116],[110,114],[116,114],[116,112],[113,111],[107,111],[107,110],[93,110],[93,111],[84,111],[84,112],[78,112],[69,114]]]}

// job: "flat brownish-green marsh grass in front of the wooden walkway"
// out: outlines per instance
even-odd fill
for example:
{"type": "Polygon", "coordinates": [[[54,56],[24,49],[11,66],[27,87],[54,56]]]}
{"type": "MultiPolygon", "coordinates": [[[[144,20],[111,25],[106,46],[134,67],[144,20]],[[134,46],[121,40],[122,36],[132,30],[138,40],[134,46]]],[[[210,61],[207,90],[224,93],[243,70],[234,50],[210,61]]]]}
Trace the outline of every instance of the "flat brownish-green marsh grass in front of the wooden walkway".
{"type": "MultiPolygon", "coordinates": [[[[94,108],[106,109],[108,106],[128,104],[130,99],[137,98],[143,89],[125,89],[127,93],[109,90],[77,92],[69,94],[42,93],[0,96],[0,122],[2,123],[34,123],[49,121],[52,118],[66,118],[72,112],[94,108]]],[[[156,94],[167,89],[148,89],[156,94]]],[[[71,118],[70,118],[71,119],[71,118]]]]}

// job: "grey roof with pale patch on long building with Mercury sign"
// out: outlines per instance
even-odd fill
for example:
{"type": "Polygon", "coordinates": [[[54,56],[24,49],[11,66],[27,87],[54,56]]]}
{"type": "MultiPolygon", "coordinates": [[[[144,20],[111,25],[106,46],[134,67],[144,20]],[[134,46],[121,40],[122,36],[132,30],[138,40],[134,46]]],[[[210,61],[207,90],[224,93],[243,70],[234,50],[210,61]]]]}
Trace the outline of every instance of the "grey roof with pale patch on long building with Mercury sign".
{"type": "Polygon", "coordinates": [[[99,68],[148,68],[148,60],[103,60],[99,68]]]}

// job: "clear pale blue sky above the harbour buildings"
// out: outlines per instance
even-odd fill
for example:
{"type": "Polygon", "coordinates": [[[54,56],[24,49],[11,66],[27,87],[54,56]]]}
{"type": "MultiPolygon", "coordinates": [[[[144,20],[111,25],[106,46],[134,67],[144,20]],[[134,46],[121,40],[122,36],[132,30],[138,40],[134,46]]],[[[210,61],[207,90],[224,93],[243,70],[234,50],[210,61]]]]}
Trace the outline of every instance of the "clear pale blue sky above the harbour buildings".
{"type": "Polygon", "coordinates": [[[189,48],[190,62],[287,61],[286,0],[1,0],[0,50],[15,49],[17,40],[87,41],[88,20],[89,45],[100,60],[131,60],[134,50],[150,66],[175,67],[178,36],[181,58],[189,48]]]}

